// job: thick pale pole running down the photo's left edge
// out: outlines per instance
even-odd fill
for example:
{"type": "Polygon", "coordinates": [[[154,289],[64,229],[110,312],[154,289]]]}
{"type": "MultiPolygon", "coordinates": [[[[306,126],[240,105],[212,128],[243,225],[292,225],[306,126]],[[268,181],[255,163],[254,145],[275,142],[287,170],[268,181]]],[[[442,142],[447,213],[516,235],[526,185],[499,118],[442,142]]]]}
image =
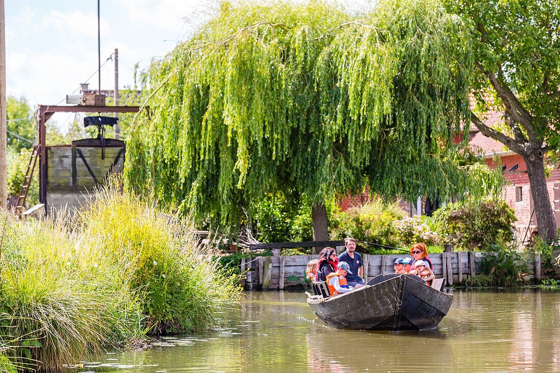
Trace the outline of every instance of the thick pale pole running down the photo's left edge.
{"type": "Polygon", "coordinates": [[[0,208],[6,209],[8,199],[6,176],[6,30],[4,0],[0,0],[0,208]]]}

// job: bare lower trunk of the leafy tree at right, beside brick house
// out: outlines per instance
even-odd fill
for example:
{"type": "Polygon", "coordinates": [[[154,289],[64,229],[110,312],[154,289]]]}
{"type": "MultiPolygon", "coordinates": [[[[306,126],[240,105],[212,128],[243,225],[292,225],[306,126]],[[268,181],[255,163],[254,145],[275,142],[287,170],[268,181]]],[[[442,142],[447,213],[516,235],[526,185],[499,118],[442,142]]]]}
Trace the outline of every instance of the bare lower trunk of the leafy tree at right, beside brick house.
{"type": "Polygon", "coordinates": [[[547,179],[544,175],[543,157],[531,153],[528,156],[524,156],[523,159],[527,165],[539,237],[548,244],[551,244],[556,241],[558,234],[552,204],[550,204],[550,197],[548,195],[547,179]]]}

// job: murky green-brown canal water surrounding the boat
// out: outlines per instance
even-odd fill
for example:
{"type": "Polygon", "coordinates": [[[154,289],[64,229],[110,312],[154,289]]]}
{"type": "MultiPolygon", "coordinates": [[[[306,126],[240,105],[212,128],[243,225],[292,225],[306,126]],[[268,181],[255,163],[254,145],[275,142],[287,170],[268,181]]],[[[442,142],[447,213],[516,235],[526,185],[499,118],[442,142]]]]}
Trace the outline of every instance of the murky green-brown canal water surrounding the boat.
{"type": "Polygon", "coordinates": [[[560,292],[452,291],[433,330],[335,330],[301,292],[246,292],[214,332],[108,352],[67,372],[560,372],[560,292]]]}

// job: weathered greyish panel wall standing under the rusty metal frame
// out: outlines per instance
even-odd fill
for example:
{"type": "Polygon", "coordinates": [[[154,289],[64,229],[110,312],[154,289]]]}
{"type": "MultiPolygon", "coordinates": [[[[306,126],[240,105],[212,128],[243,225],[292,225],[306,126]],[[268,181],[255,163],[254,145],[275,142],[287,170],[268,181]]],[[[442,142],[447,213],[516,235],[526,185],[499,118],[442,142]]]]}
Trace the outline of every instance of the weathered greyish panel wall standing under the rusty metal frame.
{"type": "MultiPolygon", "coordinates": [[[[108,176],[111,165],[122,149],[106,147],[105,159],[101,159],[99,147],[77,147],[97,181],[102,184],[108,176]]],[[[87,170],[82,158],[76,155],[76,190],[72,190],[72,146],[50,146],[46,148],[47,156],[47,208],[48,211],[60,208],[76,208],[85,201],[87,194],[97,185],[87,170]]],[[[122,172],[124,154],[113,167],[114,172],[122,172]]]]}

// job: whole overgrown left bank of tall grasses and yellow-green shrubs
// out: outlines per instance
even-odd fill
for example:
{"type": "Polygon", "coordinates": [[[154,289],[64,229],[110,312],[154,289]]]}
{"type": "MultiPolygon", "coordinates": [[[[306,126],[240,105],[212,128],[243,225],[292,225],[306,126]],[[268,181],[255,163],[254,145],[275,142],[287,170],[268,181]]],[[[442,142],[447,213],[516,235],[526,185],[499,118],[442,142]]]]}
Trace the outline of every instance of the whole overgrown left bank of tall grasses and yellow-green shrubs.
{"type": "Polygon", "coordinates": [[[115,186],[71,220],[2,221],[0,371],[53,371],[105,346],[211,328],[239,294],[189,221],[115,186]]]}

